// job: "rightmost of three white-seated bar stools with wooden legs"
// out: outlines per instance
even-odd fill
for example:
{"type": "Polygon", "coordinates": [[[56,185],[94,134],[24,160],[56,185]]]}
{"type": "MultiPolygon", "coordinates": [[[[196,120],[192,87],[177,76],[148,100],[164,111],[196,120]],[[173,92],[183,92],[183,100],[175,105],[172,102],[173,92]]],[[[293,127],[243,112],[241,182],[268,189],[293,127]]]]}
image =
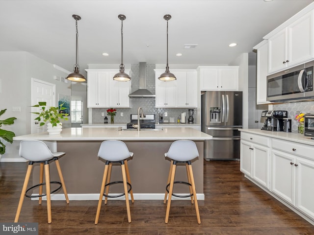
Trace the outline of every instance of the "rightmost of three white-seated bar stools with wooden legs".
{"type": "Polygon", "coordinates": [[[176,197],[191,197],[191,203],[194,204],[194,206],[195,206],[197,223],[200,224],[201,218],[200,218],[200,212],[198,210],[194,176],[193,176],[192,165],[191,165],[191,160],[199,157],[199,153],[197,151],[197,147],[196,147],[195,142],[185,141],[185,140],[174,141],[171,144],[168,152],[165,153],[165,157],[168,157],[171,159],[171,165],[170,165],[170,170],[169,170],[169,175],[168,175],[165,198],[163,201],[163,203],[165,204],[167,201],[167,196],[168,196],[165,223],[166,224],[168,223],[170,204],[171,204],[171,195],[172,195],[172,196],[176,196],[176,197]],[[175,181],[177,163],[185,163],[188,182],[175,181]],[[188,185],[189,190],[190,190],[190,194],[189,195],[183,195],[183,196],[174,194],[173,193],[173,185],[177,184],[177,183],[188,185]],[[168,190],[168,188],[169,188],[169,190],[168,190]]]}

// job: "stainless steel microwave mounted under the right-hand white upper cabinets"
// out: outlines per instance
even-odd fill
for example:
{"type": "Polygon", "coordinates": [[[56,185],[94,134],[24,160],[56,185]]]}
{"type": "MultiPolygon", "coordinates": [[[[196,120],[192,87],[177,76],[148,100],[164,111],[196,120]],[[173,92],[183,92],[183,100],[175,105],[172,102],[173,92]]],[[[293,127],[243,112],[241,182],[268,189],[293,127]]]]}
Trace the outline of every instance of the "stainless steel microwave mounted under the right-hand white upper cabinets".
{"type": "Polygon", "coordinates": [[[267,100],[298,102],[314,100],[314,61],[267,76],[267,100]]]}

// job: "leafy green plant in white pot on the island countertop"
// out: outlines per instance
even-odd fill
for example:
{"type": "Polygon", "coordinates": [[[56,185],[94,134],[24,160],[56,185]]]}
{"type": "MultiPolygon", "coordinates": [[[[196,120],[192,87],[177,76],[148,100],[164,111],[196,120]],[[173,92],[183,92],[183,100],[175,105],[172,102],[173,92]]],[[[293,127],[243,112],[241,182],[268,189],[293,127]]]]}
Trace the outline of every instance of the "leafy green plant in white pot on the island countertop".
{"type": "Polygon", "coordinates": [[[68,120],[65,116],[69,115],[62,112],[66,109],[63,107],[63,104],[64,103],[60,104],[59,107],[47,107],[47,102],[38,102],[38,104],[31,106],[40,108],[40,112],[32,112],[38,115],[34,120],[38,120],[40,126],[47,123],[47,131],[49,134],[60,134],[62,130],[62,122],[60,120],[68,120]],[[52,129],[54,129],[54,131],[52,131],[52,129]]]}

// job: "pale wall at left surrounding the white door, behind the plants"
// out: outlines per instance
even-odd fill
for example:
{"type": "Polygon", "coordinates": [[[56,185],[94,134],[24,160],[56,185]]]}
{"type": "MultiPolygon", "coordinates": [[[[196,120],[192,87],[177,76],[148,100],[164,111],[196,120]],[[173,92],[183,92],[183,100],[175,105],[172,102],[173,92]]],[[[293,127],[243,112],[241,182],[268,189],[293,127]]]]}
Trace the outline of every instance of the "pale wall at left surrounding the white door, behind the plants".
{"type": "MultiPolygon", "coordinates": [[[[11,126],[3,129],[13,131],[16,136],[31,133],[31,78],[56,84],[56,104],[58,94],[71,96],[71,83],[64,83],[53,79],[54,76],[66,77],[62,71],[53,65],[28,52],[0,52],[0,109],[7,109],[0,118],[16,117],[11,126]],[[12,107],[21,107],[21,112],[12,112],[12,107]]],[[[71,126],[71,120],[65,126],[71,126]]],[[[6,152],[1,162],[21,161],[18,155],[19,141],[12,144],[5,142],[6,152]]]]}

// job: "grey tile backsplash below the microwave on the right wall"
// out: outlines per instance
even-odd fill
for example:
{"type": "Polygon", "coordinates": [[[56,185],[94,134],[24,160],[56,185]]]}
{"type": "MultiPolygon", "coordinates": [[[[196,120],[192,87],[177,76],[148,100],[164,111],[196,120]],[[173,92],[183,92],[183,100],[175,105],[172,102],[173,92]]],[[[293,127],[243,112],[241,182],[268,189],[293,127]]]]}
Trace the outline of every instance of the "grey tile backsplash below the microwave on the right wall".
{"type": "Polygon", "coordinates": [[[297,112],[314,114],[314,101],[275,104],[273,110],[287,110],[288,118],[292,119],[292,131],[297,131],[298,122],[294,119],[295,114],[297,112]]]}

